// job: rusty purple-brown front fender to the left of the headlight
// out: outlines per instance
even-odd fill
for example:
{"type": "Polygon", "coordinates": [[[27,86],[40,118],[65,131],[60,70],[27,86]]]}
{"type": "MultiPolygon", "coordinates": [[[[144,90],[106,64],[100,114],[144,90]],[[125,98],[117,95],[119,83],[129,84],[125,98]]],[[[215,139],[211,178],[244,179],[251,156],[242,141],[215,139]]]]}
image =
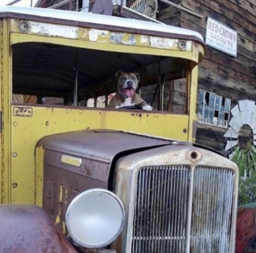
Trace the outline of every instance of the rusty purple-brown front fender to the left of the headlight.
{"type": "Polygon", "coordinates": [[[38,206],[0,206],[1,253],[77,253],[38,206]]]}

